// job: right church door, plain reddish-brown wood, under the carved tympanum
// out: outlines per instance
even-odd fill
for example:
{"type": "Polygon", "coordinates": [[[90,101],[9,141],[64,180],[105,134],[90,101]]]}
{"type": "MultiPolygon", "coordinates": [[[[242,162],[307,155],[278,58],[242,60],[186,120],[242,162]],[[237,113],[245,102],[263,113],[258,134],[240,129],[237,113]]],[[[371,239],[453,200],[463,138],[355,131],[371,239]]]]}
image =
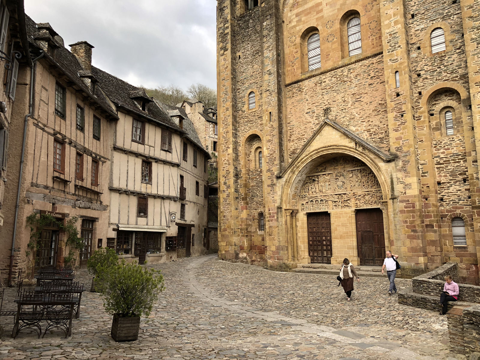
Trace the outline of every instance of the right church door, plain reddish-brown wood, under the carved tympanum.
{"type": "Polygon", "coordinates": [[[382,266],[385,258],[384,214],[380,209],[358,210],[357,248],[360,265],[382,266]]]}

